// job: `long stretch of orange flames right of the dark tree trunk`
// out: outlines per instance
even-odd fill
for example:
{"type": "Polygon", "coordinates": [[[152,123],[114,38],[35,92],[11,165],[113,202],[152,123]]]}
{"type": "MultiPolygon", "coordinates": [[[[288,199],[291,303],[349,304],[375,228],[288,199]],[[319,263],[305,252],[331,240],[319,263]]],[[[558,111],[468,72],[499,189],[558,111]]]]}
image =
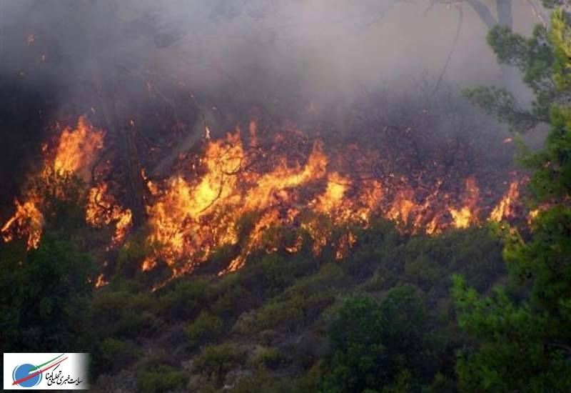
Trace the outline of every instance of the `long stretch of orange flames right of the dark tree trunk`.
{"type": "MultiPolygon", "coordinates": [[[[143,270],[164,262],[175,277],[205,262],[216,247],[238,245],[238,254],[220,272],[225,274],[240,269],[255,249],[297,252],[303,246],[300,231],[310,237],[313,254],[333,247],[341,259],[358,238],[345,229],[332,239],[333,227],[367,227],[372,217],[427,234],[482,222],[474,177],[465,179],[459,199],[440,192],[440,180],[422,197],[404,178],[391,188],[380,179],[358,179],[335,170],[319,140],[305,161],[292,161],[271,147],[271,161],[260,170],[256,164],[268,161],[268,155],[251,151],[261,146],[256,122],[248,131],[248,144],[239,129],[224,139],[209,139],[198,169],[191,166],[167,181],[148,182],[155,200],[147,207],[147,240],[154,251],[143,261],[143,270]],[[293,240],[276,242],[272,228],[293,233],[293,240]]],[[[274,141],[285,138],[278,134],[274,141]]]]}

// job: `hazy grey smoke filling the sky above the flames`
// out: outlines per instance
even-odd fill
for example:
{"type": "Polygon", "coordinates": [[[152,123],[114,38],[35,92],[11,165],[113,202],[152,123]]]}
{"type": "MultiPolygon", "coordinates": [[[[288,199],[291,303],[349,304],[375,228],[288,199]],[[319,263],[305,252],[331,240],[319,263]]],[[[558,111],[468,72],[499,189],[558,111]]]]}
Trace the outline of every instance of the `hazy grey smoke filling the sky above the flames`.
{"type": "MultiPolygon", "coordinates": [[[[495,12],[495,1],[482,1],[495,12]]],[[[14,154],[0,160],[0,175],[17,189],[45,126],[100,115],[101,103],[123,123],[158,111],[150,96],[190,126],[196,106],[206,117],[218,109],[211,129],[220,136],[253,107],[300,126],[308,113],[348,124],[355,100],[379,89],[414,94],[427,75],[434,86],[502,83],[480,17],[467,4],[432,3],[1,1],[0,118],[11,120],[0,144],[14,154]]],[[[513,20],[522,33],[537,23],[524,1],[513,1],[513,20]]],[[[163,141],[158,120],[144,123],[146,140],[163,141]]]]}

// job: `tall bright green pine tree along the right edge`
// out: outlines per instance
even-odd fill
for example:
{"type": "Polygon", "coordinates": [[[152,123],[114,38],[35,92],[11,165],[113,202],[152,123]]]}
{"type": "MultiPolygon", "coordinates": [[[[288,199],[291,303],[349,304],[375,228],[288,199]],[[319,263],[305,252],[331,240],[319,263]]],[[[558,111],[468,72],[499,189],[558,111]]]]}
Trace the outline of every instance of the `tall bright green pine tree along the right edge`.
{"type": "MultiPolygon", "coordinates": [[[[516,229],[507,235],[503,254],[517,290],[497,287],[492,294],[482,296],[461,277],[453,279],[458,322],[477,339],[475,348],[462,352],[458,359],[463,391],[565,392],[571,386],[568,18],[562,9],[555,11],[550,29],[538,27],[527,40],[504,29],[492,29],[488,37],[498,59],[520,64],[526,83],[535,86],[536,105],[527,115],[550,122],[545,148],[533,154],[525,152],[522,157],[534,171],[531,202],[549,207],[532,223],[530,239],[516,229]],[[542,69],[540,64],[547,67],[542,69]]],[[[505,114],[493,101],[479,104],[485,109],[495,108],[500,119],[505,114]]]]}

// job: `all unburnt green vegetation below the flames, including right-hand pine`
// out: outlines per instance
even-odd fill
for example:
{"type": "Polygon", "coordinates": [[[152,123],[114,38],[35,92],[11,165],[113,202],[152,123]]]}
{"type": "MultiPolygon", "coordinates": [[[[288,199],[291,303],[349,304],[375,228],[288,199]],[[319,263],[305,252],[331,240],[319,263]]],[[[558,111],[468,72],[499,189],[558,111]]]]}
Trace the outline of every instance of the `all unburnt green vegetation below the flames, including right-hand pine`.
{"type": "Polygon", "coordinates": [[[378,220],[355,229],[341,261],[309,244],[253,252],[236,273],[205,268],[150,292],[137,269],[143,228],[94,290],[86,239],[97,234],[81,214],[84,185],[70,178],[61,186],[74,197],[50,205],[39,249],[0,248],[1,347],[91,352],[96,387],[143,392],[569,391],[571,28],[556,11],[530,39],[498,27],[489,42],[537,101],[523,111],[495,88],[468,98],[514,131],[550,123],[545,148],[520,156],[541,208],[529,232],[490,224],[410,237],[378,220]]]}

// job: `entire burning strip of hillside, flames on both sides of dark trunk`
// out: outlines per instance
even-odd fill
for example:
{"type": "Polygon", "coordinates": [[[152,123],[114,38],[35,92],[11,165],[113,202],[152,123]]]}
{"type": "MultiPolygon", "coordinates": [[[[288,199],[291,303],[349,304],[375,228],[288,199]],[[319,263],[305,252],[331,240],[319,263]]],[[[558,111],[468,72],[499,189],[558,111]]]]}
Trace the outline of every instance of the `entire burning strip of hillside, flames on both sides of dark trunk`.
{"type": "MultiPolygon", "coordinates": [[[[438,169],[407,174],[378,146],[325,141],[291,126],[261,135],[251,120],[246,131],[237,126],[218,139],[207,126],[203,132],[203,147],[179,157],[173,176],[147,179],[141,171],[147,189],[143,231],[151,250],[141,261],[143,271],[166,264],[176,277],[220,247],[234,252],[218,274],[240,269],[260,249],[295,253],[309,247],[317,256],[329,247],[343,259],[358,242],[358,229],[375,219],[432,235],[522,214],[523,178],[515,174],[505,174],[511,179],[503,188],[484,184],[482,190],[477,173],[462,177],[452,167],[445,175],[438,169]]],[[[106,250],[125,242],[132,214],[115,196],[121,186],[113,181],[113,159],[103,152],[105,134],[80,117],[74,129],[44,145],[44,166],[31,184],[48,185],[51,193],[46,197],[30,186],[24,202],[16,199],[16,212],[2,227],[6,242],[22,237],[29,248],[39,246],[49,198],[66,199],[58,184],[69,176],[86,184],[86,222],[112,229],[106,250]]]]}

